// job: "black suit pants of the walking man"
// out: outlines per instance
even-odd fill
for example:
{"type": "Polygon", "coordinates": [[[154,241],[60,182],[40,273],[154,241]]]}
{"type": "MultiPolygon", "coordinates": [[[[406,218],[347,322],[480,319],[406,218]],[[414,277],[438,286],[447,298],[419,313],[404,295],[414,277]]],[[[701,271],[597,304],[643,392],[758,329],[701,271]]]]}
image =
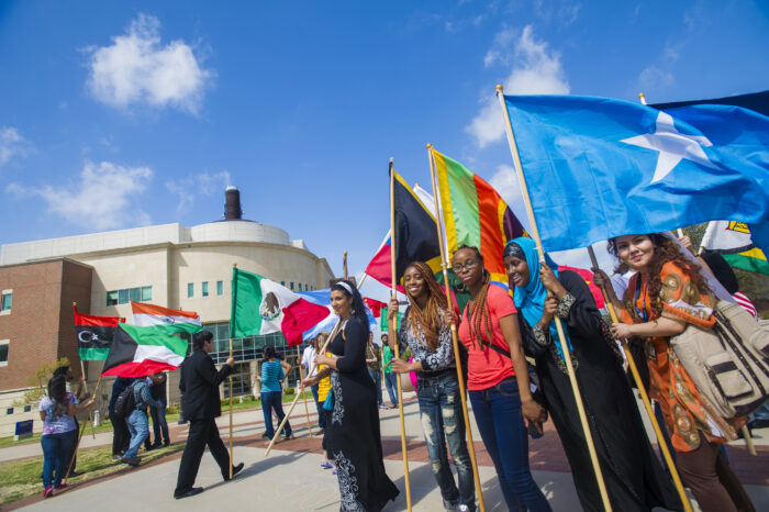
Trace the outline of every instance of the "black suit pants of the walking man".
{"type": "Polygon", "coordinates": [[[214,419],[190,420],[187,446],[185,446],[185,453],[181,455],[179,478],[176,482],[174,496],[183,494],[192,488],[200,468],[200,459],[203,457],[207,445],[222,470],[222,477],[230,478],[230,452],[224,447],[224,443],[219,436],[219,427],[214,419]]]}

